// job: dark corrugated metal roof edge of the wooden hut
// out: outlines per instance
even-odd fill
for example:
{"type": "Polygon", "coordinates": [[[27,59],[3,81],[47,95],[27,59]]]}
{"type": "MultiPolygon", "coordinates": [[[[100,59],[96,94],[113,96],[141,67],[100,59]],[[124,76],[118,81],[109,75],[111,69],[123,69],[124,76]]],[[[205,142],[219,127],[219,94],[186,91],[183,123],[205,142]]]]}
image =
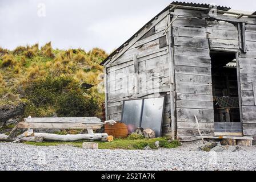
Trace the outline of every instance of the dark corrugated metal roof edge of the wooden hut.
{"type": "MultiPolygon", "coordinates": [[[[157,16],[161,15],[163,12],[165,12],[168,9],[170,9],[170,7],[172,7],[173,5],[191,6],[191,7],[205,7],[205,8],[210,7],[210,4],[186,3],[186,2],[178,2],[178,1],[175,2],[174,1],[169,6],[167,6],[163,11],[161,11],[157,16]]],[[[217,9],[218,10],[222,10],[222,11],[229,11],[230,7],[217,6],[217,9]]],[[[154,18],[155,17],[156,16],[154,16],[154,18]]],[[[152,22],[154,20],[154,18],[151,19],[149,22],[147,22],[145,24],[145,26],[147,24],[149,24],[150,22],[152,22]]],[[[143,28],[145,28],[145,26],[143,26],[139,31],[137,31],[129,40],[127,40],[125,43],[123,43],[119,48],[115,49],[114,52],[112,52],[105,60],[102,61],[101,65],[105,64],[106,61],[110,59],[110,57],[113,57],[117,53],[117,51],[120,51],[124,47],[124,45],[129,43],[135,37],[135,35],[137,35],[139,32],[141,32],[143,30],[143,28]]]]}

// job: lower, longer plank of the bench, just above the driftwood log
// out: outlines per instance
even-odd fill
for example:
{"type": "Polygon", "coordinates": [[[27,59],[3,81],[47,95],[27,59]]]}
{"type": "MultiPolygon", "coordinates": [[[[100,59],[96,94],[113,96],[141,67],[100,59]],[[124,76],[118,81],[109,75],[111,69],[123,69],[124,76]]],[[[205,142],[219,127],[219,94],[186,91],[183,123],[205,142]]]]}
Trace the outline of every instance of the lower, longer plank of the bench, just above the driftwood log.
{"type": "Polygon", "coordinates": [[[83,123],[46,123],[46,122],[21,122],[18,123],[20,129],[101,129],[101,124],[83,123]]]}

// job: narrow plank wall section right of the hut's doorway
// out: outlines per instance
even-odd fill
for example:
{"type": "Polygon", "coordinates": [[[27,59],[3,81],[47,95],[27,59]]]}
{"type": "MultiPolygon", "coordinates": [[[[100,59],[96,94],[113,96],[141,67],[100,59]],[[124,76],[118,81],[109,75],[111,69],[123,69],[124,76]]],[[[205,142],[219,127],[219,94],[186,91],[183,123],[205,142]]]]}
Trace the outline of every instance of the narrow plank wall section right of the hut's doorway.
{"type": "Polygon", "coordinates": [[[247,52],[239,51],[243,135],[256,139],[256,25],[246,24],[247,52]]]}

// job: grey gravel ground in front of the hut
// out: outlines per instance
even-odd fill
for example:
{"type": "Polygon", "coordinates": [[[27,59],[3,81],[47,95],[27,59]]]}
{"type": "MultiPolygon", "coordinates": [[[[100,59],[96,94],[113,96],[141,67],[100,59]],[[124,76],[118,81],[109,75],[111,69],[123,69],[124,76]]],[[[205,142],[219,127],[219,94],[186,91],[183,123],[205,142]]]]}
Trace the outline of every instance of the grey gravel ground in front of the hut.
{"type": "Polygon", "coordinates": [[[84,150],[0,143],[0,170],[256,170],[256,147],[196,151],[199,143],[159,150],[84,150]]]}

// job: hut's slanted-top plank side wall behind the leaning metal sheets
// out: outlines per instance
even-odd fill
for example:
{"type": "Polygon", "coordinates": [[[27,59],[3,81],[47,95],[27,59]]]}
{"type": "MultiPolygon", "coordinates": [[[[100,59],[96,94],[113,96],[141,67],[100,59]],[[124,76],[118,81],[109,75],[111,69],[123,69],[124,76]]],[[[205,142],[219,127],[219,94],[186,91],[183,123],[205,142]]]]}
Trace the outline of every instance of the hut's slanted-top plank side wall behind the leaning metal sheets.
{"type": "Polygon", "coordinates": [[[124,100],[166,96],[162,131],[170,135],[169,48],[165,35],[168,14],[169,11],[155,19],[148,27],[153,28],[149,36],[143,33],[138,35],[143,38],[132,40],[130,47],[119,53],[119,57],[110,61],[106,67],[109,90],[107,118],[121,120],[124,100]]]}

